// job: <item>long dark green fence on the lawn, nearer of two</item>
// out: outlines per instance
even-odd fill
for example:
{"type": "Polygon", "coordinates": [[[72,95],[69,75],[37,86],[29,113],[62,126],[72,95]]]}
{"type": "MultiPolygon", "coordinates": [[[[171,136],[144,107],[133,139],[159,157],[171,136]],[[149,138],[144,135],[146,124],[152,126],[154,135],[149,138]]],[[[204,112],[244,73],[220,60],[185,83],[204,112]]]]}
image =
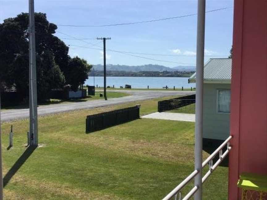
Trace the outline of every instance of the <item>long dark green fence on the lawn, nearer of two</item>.
{"type": "Polygon", "coordinates": [[[102,130],[107,127],[115,126],[117,124],[129,122],[139,119],[140,106],[123,108],[120,110],[113,110],[109,112],[87,115],[86,118],[86,132],[93,132],[102,130]]]}

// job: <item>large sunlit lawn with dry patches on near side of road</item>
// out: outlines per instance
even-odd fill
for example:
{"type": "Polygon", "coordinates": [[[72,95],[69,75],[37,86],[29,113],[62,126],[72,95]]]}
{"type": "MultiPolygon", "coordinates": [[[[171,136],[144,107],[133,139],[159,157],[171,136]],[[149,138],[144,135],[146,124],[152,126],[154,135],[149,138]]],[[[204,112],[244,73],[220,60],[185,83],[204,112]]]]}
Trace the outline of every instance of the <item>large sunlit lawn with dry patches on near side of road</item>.
{"type": "MultiPolygon", "coordinates": [[[[194,169],[194,123],[138,119],[85,133],[86,115],[135,104],[141,115],[157,110],[152,99],[39,117],[33,152],[25,152],[28,120],[3,123],[5,199],[162,199],[194,169]],[[11,124],[14,147],[6,150],[11,124]]],[[[228,168],[218,167],[203,199],[227,199],[227,181],[228,168]]]]}

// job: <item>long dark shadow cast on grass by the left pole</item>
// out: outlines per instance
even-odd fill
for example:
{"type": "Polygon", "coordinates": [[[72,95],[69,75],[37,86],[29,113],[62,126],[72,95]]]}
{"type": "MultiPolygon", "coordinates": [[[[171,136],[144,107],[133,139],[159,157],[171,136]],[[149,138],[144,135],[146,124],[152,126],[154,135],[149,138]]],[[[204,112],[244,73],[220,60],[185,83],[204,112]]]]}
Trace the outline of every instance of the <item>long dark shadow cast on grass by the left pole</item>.
{"type": "Polygon", "coordinates": [[[25,161],[32,155],[37,146],[30,146],[26,149],[26,151],[19,157],[19,159],[15,162],[15,164],[11,167],[11,169],[6,173],[3,178],[3,187],[5,187],[11,178],[17,173],[19,168],[25,163],[25,161]]]}

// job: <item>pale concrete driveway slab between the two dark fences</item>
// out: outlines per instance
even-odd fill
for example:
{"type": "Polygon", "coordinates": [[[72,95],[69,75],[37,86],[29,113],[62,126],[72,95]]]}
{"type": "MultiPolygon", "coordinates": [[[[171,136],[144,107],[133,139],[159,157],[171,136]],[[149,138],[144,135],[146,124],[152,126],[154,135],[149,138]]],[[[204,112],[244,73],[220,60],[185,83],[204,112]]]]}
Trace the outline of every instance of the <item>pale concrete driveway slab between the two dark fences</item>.
{"type": "Polygon", "coordinates": [[[195,114],[171,113],[171,112],[160,112],[160,113],[155,112],[149,115],[142,116],[142,118],[195,122],[195,114]]]}

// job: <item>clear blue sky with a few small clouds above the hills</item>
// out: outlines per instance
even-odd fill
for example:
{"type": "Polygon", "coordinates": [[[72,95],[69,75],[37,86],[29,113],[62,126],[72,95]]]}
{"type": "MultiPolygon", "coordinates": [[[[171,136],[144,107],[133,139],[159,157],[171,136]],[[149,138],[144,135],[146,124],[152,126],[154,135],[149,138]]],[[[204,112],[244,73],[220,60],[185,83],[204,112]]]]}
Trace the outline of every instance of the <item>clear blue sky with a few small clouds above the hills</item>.
{"type": "MultiPolygon", "coordinates": [[[[206,10],[233,6],[233,1],[208,1],[206,10]]],[[[35,0],[35,11],[47,14],[49,22],[71,25],[103,25],[129,23],[197,13],[197,1],[164,0],[35,0]]],[[[0,23],[3,19],[28,12],[28,0],[0,0],[0,23]]],[[[111,27],[62,27],[56,33],[66,44],[102,48],[96,37],[111,37],[107,48],[125,52],[171,54],[177,56],[138,55],[168,63],[147,60],[107,51],[107,64],[158,64],[168,67],[194,65],[196,62],[197,16],[111,27]],[[69,40],[90,38],[87,40],[69,40]],[[92,46],[92,44],[96,44],[92,46]]],[[[228,56],[232,45],[233,7],[206,14],[205,49],[207,61],[211,56],[228,56]]],[[[103,63],[103,52],[70,46],[70,56],[78,55],[91,64],[103,63]]]]}

